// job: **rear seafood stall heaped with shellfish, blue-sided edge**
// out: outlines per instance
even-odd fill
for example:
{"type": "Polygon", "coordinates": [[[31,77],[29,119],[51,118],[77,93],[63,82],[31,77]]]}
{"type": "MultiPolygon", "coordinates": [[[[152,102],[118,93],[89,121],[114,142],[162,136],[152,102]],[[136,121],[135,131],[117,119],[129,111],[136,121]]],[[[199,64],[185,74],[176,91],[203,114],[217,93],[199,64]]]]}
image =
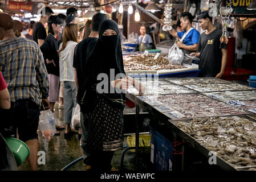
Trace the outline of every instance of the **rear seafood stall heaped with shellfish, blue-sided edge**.
{"type": "Polygon", "coordinates": [[[130,54],[124,56],[125,72],[132,77],[145,74],[147,77],[157,74],[159,77],[197,77],[197,64],[169,64],[168,59],[159,54],[130,54]]]}

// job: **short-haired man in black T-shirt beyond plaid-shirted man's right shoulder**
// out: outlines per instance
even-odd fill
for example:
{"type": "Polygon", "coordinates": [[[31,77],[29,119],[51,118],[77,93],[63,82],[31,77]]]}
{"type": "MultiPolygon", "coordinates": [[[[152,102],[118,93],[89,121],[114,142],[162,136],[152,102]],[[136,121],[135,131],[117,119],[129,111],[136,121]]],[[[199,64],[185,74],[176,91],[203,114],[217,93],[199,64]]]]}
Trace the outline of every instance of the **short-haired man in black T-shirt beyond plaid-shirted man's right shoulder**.
{"type": "Polygon", "coordinates": [[[33,40],[41,47],[46,39],[46,28],[44,28],[44,24],[47,23],[48,18],[53,15],[54,12],[50,7],[44,7],[40,14],[39,22],[35,23],[33,27],[33,40]],[[45,13],[45,14],[44,14],[45,13]]]}

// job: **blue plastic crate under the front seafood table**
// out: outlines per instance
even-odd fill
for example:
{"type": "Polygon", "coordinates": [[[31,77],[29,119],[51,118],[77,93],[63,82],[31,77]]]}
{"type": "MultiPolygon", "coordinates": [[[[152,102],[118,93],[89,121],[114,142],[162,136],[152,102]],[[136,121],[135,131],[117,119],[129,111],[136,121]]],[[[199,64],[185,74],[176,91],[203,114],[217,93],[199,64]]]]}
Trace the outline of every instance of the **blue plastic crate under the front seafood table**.
{"type": "Polygon", "coordinates": [[[156,171],[172,171],[173,143],[149,127],[151,134],[151,163],[156,171]]]}

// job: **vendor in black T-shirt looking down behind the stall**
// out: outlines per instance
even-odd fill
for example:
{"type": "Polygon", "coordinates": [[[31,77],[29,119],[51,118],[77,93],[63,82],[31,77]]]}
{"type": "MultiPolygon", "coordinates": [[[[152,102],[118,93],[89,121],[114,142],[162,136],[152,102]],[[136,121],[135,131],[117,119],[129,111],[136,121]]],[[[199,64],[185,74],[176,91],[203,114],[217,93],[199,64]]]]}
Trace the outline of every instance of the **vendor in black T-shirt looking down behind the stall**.
{"type": "Polygon", "coordinates": [[[213,25],[209,11],[203,11],[197,19],[206,31],[200,35],[197,53],[190,55],[200,57],[200,77],[221,78],[227,63],[227,45],[220,42],[222,31],[213,25]]]}

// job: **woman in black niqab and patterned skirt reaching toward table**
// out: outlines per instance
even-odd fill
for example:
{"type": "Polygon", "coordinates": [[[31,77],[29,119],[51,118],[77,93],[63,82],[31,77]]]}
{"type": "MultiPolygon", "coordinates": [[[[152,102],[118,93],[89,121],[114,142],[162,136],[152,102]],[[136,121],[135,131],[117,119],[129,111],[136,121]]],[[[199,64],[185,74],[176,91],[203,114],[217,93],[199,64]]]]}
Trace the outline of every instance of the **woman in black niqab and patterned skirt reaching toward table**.
{"type": "MultiPolygon", "coordinates": [[[[99,26],[99,39],[94,51],[85,63],[86,78],[84,85],[84,105],[88,117],[88,138],[82,140],[83,148],[90,153],[91,159],[84,161],[91,169],[111,169],[113,152],[123,148],[123,109],[125,94],[120,89],[111,90],[111,84],[121,81],[121,89],[127,89],[129,84],[124,72],[123,55],[117,23],[113,20],[104,20],[99,26]],[[115,71],[115,74],[113,74],[115,71]],[[111,73],[112,72],[112,73],[111,73]],[[104,73],[107,79],[97,80],[104,73]],[[115,78],[117,74],[121,76],[115,78]],[[120,78],[120,79],[119,79],[120,78]],[[102,93],[104,89],[104,93],[102,93]],[[112,92],[111,92],[112,91],[112,92]],[[114,91],[114,92],[113,92],[114,91]]],[[[120,83],[119,83],[120,84],[120,83]]],[[[141,86],[141,85],[140,85],[141,86]]],[[[141,93],[141,91],[140,91],[141,93]]]]}

